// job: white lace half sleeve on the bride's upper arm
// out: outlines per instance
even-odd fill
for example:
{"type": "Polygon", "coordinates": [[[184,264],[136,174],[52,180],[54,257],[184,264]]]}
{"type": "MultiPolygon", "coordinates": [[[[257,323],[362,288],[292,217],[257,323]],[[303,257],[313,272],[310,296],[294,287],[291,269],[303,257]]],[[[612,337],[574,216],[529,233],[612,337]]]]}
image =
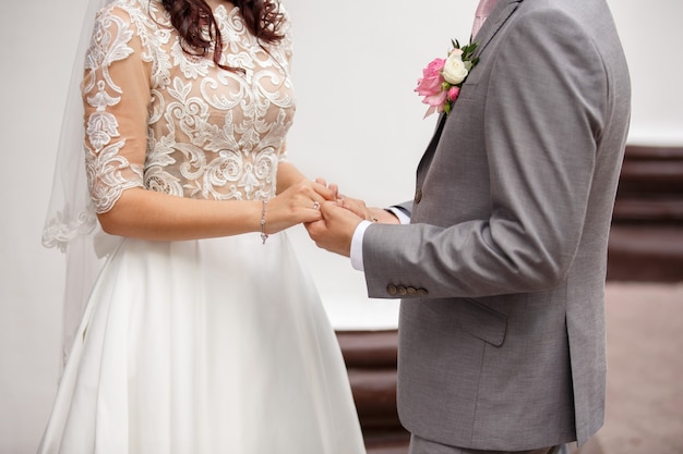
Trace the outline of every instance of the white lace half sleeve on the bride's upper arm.
{"type": "Polygon", "coordinates": [[[123,191],[143,186],[147,144],[149,68],[130,16],[116,7],[95,21],[82,83],[85,167],[98,213],[123,191]]]}

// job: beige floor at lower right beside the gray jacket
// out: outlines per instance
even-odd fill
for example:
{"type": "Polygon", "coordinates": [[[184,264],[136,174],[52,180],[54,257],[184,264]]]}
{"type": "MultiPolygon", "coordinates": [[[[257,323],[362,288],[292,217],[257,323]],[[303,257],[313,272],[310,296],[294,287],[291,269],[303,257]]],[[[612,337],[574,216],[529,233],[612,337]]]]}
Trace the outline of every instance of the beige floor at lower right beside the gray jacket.
{"type": "Polygon", "coordinates": [[[610,283],[607,320],[606,422],[580,454],[683,454],[683,283],[610,283]]]}

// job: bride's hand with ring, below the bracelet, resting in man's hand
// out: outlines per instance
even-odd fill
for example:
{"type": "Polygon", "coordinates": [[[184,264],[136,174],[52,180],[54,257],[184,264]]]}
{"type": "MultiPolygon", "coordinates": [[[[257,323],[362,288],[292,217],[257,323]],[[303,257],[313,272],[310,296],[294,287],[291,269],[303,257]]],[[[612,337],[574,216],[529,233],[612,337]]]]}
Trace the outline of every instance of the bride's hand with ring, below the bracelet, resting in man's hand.
{"type": "Polygon", "coordinates": [[[335,188],[301,180],[266,204],[265,231],[271,234],[302,222],[320,221],[320,206],[325,200],[335,199],[335,188]]]}

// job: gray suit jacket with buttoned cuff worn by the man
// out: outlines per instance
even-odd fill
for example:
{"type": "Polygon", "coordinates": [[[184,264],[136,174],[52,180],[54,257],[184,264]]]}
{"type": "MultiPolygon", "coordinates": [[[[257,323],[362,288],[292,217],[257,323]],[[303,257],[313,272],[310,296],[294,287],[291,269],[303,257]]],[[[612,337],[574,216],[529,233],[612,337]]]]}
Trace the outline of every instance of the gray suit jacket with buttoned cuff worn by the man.
{"type": "Polygon", "coordinates": [[[584,442],[603,420],[626,62],[604,0],[500,0],[477,41],[411,224],[363,240],[369,295],[404,298],[399,416],[453,446],[584,442]]]}

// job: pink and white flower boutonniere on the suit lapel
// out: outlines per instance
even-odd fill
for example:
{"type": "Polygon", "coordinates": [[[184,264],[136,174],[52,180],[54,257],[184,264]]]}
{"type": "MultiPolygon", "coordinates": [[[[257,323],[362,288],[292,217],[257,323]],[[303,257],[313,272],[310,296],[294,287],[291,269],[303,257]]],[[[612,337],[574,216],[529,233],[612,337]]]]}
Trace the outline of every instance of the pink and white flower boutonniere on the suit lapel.
{"type": "Polygon", "coordinates": [[[415,89],[418,95],[423,96],[422,102],[429,105],[424,118],[434,112],[451,112],[453,103],[460,94],[460,86],[467,78],[469,72],[479,62],[479,57],[472,58],[477,49],[477,42],[470,42],[460,48],[456,40],[453,49],[445,59],[434,59],[422,70],[422,77],[418,79],[415,89]]]}

